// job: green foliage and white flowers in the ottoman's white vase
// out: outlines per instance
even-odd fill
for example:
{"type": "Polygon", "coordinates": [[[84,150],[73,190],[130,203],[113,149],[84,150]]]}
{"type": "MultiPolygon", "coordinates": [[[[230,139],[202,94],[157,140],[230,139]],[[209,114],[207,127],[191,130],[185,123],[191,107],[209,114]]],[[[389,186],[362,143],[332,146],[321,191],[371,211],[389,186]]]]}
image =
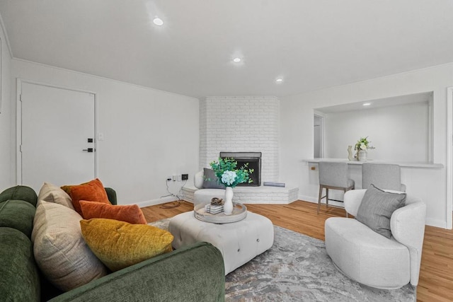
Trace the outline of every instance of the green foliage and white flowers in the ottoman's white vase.
{"type": "Polygon", "coordinates": [[[212,161],[210,163],[217,179],[226,187],[236,187],[236,185],[243,182],[253,182],[249,177],[253,173],[253,169],[248,168],[248,163],[239,169],[236,168],[237,165],[238,162],[234,158],[219,158],[219,161],[212,161]]]}

